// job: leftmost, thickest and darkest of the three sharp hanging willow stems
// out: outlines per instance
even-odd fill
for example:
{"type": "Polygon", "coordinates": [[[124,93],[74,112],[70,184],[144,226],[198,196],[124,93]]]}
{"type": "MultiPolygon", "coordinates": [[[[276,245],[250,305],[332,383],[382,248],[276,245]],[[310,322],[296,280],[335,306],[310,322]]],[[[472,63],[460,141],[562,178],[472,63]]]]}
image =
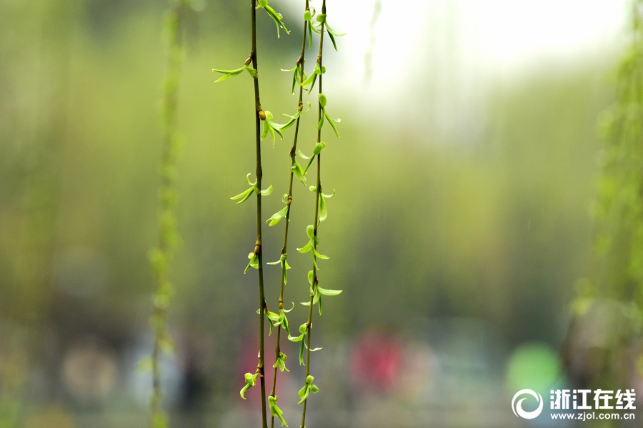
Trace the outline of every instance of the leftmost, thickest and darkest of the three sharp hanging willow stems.
{"type": "MultiPolygon", "coordinates": [[[[261,119],[265,118],[265,113],[261,110],[261,101],[259,100],[259,67],[256,58],[256,8],[255,1],[250,0],[251,9],[251,49],[250,58],[252,68],[256,70],[254,74],[254,128],[255,128],[255,150],[256,150],[256,186],[261,189],[261,119]],[[263,114],[262,114],[263,113],[263,114]]],[[[254,253],[259,259],[259,364],[256,372],[259,373],[259,382],[261,384],[261,426],[268,427],[266,417],[266,379],[264,377],[264,307],[266,307],[266,297],[264,295],[264,260],[263,251],[261,250],[261,192],[256,193],[256,245],[254,253]]]]}

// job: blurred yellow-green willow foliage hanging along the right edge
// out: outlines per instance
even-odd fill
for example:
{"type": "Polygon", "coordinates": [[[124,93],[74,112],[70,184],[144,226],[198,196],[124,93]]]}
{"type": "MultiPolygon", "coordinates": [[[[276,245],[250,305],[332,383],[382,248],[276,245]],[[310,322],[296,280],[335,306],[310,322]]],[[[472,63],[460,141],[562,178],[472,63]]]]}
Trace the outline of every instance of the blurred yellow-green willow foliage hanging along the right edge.
{"type": "Polygon", "coordinates": [[[633,0],[616,101],[604,113],[590,279],[577,282],[567,362],[577,381],[629,387],[643,373],[643,1],[633,0]],[[584,348],[583,356],[573,355],[584,348]],[[574,361],[575,360],[575,361],[574,361]]]}

